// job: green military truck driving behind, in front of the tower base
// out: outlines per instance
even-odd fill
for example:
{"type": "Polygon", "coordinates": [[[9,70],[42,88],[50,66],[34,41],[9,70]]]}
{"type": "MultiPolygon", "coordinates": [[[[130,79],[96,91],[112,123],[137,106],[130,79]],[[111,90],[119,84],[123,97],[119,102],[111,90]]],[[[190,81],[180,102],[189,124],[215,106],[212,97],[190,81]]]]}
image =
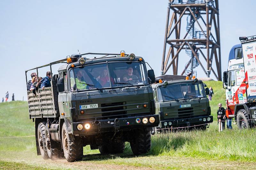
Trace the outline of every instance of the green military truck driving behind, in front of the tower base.
{"type": "Polygon", "coordinates": [[[204,89],[206,85],[201,80],[186,79],[189,77],[164,75],[152,84],[156,113],[160,119],[158,129],[194,125],[199,125],[195,126],[198,129],[206,129],[206,125],[213,121],[206,97],[209,89],[204,89]]]}

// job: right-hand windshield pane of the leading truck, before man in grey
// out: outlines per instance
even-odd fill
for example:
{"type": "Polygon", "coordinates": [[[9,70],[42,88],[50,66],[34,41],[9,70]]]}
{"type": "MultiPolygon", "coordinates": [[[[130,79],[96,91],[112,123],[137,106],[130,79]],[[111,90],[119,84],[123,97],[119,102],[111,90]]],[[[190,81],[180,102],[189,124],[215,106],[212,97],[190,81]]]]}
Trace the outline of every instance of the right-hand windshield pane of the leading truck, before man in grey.
{"type": "Polygon", "coordinates": [[[113,87],[148,84],[141,62],[112,62],[108,67],[113,87]]]}

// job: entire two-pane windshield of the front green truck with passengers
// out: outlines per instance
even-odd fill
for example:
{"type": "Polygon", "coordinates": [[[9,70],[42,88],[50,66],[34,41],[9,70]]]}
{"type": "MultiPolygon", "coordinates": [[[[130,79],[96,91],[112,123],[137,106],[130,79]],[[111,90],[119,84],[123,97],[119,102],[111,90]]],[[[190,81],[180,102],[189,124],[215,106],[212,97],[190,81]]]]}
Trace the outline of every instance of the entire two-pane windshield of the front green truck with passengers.
{"type": "Polygon", "coordinates": [[[71,91],[144,85],[144,65],[140,62],[110,62],[76,67],[70,72],[71,91]]]}

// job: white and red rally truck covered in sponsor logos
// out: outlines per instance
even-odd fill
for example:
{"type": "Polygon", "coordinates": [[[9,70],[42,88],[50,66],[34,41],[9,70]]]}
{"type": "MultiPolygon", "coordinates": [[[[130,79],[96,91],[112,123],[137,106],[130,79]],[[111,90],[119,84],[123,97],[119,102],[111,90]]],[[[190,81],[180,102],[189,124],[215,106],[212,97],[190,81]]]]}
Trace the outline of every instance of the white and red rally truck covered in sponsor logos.
{"type": "Polygon", "coordinates": [[[223,72],[226,89],[226,117],[234,117],[239,129],[256,124],[256,36],[240,37],[241,44],[229,53],[228,70],[223,72]]]}

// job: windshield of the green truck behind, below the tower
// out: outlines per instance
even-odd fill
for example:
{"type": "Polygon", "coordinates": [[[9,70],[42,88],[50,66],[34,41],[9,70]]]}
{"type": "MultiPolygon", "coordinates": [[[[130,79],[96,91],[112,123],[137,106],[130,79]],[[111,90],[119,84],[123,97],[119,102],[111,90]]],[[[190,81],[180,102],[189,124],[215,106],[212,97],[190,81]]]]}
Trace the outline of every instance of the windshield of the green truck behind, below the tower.
{"type": "Polygon", "coordinates": [[[180,83],[158,88],[160,102],[206,97],[201,83],[180,83]]]}

